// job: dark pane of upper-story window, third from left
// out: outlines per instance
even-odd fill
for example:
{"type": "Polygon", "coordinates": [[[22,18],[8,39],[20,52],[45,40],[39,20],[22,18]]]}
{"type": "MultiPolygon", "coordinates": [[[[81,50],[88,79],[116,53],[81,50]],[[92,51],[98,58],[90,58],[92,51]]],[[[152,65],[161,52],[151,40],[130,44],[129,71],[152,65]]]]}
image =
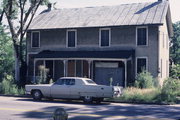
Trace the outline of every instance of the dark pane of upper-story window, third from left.
{"type": "Polygon", "coordinates": [[[109,46],[109,30],[101,30],[101,46],[109,46]]]}

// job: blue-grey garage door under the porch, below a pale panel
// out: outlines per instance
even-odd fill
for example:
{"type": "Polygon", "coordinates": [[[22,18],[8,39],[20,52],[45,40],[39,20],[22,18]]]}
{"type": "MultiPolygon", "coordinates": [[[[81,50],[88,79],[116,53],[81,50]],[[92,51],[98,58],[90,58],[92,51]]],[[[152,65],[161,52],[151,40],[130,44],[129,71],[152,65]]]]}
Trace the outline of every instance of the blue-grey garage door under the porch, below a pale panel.
{"type": "Polygon", "coordinates": [[[124,86],[123,68],[96,68],[95,82],[100,85],[110,85],[110,78],[113,79],[112,85],[124,86]]]}

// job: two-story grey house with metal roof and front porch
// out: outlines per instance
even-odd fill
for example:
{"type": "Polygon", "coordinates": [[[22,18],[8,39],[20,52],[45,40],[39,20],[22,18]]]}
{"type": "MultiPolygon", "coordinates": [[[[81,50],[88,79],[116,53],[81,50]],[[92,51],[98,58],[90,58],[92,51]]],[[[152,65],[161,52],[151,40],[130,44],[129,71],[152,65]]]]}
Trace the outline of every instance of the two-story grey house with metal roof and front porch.
{"type": "Polygon", "coordinates": [[[172,22],[168,1],[46,10],[27,33],[28,78],[49,69],[48,79],[92,78],[127,86],[142,69],[169,76],[172,22]]]}

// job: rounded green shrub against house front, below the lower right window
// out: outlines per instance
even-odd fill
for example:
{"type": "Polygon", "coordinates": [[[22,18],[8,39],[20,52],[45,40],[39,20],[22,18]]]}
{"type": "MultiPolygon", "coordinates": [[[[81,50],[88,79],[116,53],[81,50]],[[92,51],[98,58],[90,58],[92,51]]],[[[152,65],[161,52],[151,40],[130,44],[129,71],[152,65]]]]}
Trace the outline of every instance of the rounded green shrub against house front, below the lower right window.
{"type": "Polygon", "coordinates": [[[141,73],[137,75],[135,81],[135,87],[152,88],[153,86],[154,86],[154,80],[151,73],[149,73],[146,70],[143,70],[141,73]]]}

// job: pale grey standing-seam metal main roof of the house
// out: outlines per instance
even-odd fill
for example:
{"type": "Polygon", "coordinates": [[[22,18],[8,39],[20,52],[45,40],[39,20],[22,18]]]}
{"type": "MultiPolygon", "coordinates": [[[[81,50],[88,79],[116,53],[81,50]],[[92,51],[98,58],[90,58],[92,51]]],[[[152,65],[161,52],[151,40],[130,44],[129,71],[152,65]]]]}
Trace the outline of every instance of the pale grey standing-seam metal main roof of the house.
{"type": "Polygon", "coordinates": [[[162,25],[168,1],[133,3],[117,6],[59,9],[38,15],[29,30],[123,25],[162,25]]]}

